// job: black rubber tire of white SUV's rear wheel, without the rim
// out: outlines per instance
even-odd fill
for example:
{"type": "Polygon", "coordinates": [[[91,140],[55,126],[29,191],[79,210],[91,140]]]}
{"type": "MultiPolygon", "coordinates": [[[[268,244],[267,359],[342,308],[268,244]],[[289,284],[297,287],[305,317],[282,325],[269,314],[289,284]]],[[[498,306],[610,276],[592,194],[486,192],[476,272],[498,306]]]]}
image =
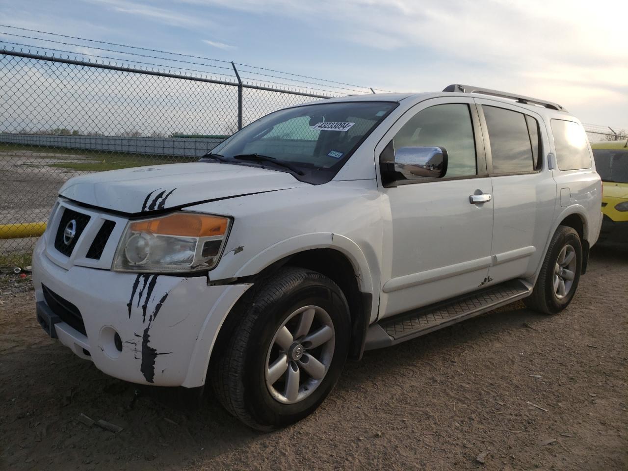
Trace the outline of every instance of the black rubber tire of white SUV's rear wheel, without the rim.
{"type": "Polygon", "coordinates": [[[536,280],[536,284],[534,284],[532,295],[525,298],[524,303],[529,308],[543,314],[553,315],[560,313],[573,299],[573,295],[578,289],[581,271],[582,243],[580,242],[580,236],[572,227],[559,225],[549,242],[548,251],[545,255],[539,278],[536,280]],[[575,249],[576,267],[570,289],[563,297],[559,298],[554,288],[555,267],[561,251],[566,246],[571,246],[575,249]]]}

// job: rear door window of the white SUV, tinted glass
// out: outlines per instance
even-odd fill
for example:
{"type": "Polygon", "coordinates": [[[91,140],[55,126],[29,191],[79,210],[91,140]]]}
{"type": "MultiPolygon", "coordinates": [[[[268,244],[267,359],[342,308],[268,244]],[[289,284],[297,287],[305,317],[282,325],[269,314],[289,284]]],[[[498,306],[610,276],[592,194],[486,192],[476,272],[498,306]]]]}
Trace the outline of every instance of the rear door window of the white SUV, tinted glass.
{"type": "Polygon", "coordinates": [[[492,174],[534,171],[539,154],[536,119],[530,117],[534,122],[529,122],[523,113],[495,106],[483,105],[482,111],[489,131],[492,174]]]}

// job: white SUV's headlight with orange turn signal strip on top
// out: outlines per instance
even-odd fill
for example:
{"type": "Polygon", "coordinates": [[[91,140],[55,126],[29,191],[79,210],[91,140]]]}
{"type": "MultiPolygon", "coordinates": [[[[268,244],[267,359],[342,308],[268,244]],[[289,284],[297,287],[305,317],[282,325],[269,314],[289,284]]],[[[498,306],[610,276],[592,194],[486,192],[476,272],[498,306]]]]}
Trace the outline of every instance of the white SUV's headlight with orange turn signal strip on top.
{"type": "Polygon", "coordinates": [[[187,272],[214,268],[230,222],[227,217],[186,212],[129,221],[112,269],[187,272]]]}

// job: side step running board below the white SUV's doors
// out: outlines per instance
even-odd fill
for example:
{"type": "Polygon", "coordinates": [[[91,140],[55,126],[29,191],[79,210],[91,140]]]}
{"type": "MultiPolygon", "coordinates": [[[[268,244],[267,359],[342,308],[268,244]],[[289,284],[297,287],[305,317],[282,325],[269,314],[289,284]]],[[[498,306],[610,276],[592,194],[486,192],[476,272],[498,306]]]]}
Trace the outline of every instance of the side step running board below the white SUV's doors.
{"type": "Polygon", "coordinates": [[[385,318],[369,327],[364,350],[400,344],[521,300],[531,293],[532,288],[520,280],[506,281],[452,300],[385,318]]]}

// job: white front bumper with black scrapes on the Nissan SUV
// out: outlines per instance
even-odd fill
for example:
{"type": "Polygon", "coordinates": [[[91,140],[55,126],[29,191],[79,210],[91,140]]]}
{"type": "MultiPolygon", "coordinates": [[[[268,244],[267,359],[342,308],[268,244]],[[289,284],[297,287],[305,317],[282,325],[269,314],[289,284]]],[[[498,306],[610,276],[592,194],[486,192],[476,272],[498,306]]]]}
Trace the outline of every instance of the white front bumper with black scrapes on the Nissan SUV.
{"type": "Polygon", "coordinates": [[[46,256],[45,238],[33,253],[35,297],[43,303],[40,313],[45,306],[51,308],[48,313],[55,311],[50,304],[57,301],[71,306],[73,318],[58,306],[53,312],[62,310],[60,318],[53,318],[51,331],[63,345],[125,381],[185,387],[205,383],[220,326],[251,284],[207,286],[204,276],[65,269],[46,256]]]}

